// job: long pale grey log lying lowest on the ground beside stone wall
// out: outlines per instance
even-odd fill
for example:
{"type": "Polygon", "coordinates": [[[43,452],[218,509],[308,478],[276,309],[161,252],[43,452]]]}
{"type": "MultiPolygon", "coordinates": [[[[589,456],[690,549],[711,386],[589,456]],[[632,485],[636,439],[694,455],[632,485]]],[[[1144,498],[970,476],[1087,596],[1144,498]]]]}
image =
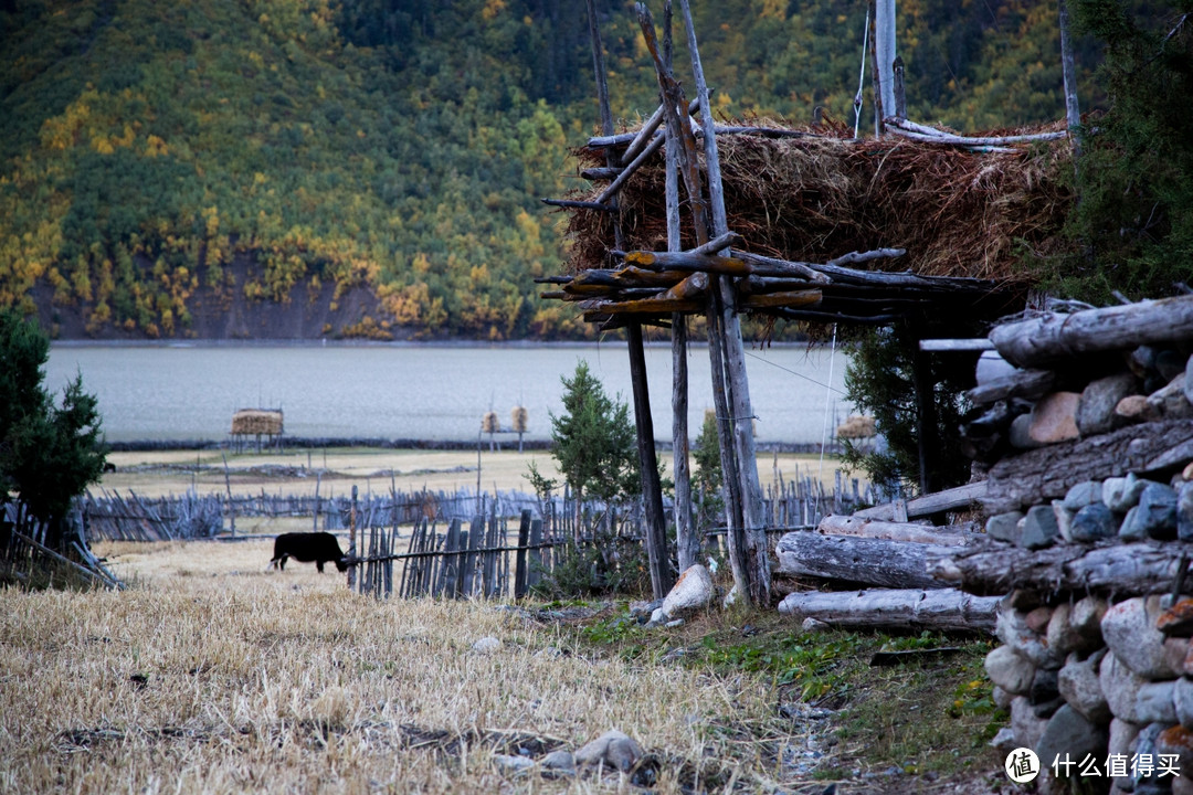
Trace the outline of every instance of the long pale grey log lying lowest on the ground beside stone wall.
{"type": "Polygon", "coordinates": [[[954,588],[808,591],[789,594],[779,613],[834,627],[993,632],[1000,601],[954,588]]]}

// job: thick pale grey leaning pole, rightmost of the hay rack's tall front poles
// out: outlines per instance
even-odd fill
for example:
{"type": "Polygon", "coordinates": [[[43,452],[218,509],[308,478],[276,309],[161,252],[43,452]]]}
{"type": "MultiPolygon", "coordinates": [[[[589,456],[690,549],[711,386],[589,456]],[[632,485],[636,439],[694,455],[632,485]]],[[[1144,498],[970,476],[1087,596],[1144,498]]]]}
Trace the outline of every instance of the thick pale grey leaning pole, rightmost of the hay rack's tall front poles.
{"type": "MultiPolygon", "coordinates": [[[[894,0],[891,0],[894,5],[894,0]]],[[[709,104],[709,86],[704,80],[700,52],[696,43],[696,26],[688,0],[680,0],[684,23],[687,27],[687,49],[692,56],[692,73],[700,99],[700,124],[704,128],[704,157],[709,172],[709,199],[712,210],[712,234],[717,237],[729,231],[725,215],[724,185],[721,180],[721,157],[717,153],[717,135],[713,129],[709,104]]],[[[741,477],[742,532],[744,533],[747,570],[749,578],[741,583],[740,595],[759,607],[771,601],[771,557],[766,540],[766,518],[762,515],[762,486],[758,478],[758,456],[754,446],[754,409],[749,398],[749,379],[746,374],[746,348],[742,344],[741,321],[734,306],[734,288],[730,280],[721,280],[724,319],[725,374],[733,385],[731,399],[734,442],[741,477]]]]}

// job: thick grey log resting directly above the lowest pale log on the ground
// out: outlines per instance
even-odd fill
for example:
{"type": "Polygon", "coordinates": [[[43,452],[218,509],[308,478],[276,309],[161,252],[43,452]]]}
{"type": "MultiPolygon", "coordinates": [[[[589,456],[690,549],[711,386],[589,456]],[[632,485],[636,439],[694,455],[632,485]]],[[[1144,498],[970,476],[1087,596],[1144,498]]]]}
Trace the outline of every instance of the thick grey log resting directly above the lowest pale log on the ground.
{"type": "Polygon", "coordinates": [[[951,583],[928,573],[928,563],[954,549],[938,544],[821,535],[808,530],[786,533],[775,545],[781,572],[880,588],[947,588],[951,583]]]}

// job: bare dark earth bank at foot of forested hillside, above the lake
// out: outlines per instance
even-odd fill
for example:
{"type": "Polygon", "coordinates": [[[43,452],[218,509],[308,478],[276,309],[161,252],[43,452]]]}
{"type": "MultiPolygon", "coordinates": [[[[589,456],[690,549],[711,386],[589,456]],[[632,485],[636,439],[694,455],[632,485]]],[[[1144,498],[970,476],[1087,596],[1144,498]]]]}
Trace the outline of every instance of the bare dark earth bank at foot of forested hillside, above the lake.
{"type": "MultiPolygon", "coordinates": [[[[245,294],[249,273],[260,273],[248,255],[237,255],[224,267],[224,284],[211,287],[199,269],[199,286],[186,299],[190,323],[179,323],[162,339],[178,340],[322,340],[360,337],[408,339],[408,329],[383,324],[377,296],[364,285],[341,288],[323,284],[311,290],[305,282],[290,288],[285,300],[253,299],[245,294]]],[[[147,340],[141,328],[89,323],[94,306],[88,303],[56,304],[54,291],[41,284],[33,291],[43,328],[57,340],[147,340]]]]}

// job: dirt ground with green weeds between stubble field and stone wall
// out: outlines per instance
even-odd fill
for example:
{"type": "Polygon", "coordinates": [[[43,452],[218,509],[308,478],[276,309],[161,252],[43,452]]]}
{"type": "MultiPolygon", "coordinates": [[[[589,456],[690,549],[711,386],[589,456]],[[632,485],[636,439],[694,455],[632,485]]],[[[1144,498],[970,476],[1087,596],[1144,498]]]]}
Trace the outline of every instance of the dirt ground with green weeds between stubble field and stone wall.
{"type": "MultiPolygon", "coordinates": [[[[983,671],[991,648],[985,639],[808,633],[778,615],[744,613],[710,614],[673,631],[647,631],[619,611],[585,625],[579,634],[589,646],[623,659],[674,660],[722,682],[748,675],[767,690],[775,714],[787,719],[789,733],[804,731],[809,720],[820,721],[822,756],[812,771],[817,778],[895,770],[938,778],[1001,768],[987,743],[1007,715],[995,707],[983,671]],[[903,653],[871,665],[877,652],[903,653]],[[832,714],[826,716],[826,710],[832,714]]],[[[740,733],[742,726],[722,725],[718,731],[740,733]]],[[[752,731],[765,744],[777,739],[774,729],[753,725],[752,731]]]]}

